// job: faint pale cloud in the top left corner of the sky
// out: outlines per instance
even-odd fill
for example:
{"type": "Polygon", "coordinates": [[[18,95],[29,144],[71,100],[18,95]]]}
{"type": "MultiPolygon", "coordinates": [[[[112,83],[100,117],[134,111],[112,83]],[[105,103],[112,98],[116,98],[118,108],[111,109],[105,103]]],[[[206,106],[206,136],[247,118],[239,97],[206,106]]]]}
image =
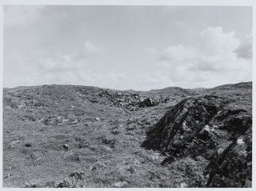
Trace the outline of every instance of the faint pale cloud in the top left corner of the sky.
{"type": "Polygon", "coordinates": [[[5,5],[4,8],[4,24],[5,27],[20,27],[21,25],[31,24],[41,15],[40,6],[30,5],[5,5]]]}

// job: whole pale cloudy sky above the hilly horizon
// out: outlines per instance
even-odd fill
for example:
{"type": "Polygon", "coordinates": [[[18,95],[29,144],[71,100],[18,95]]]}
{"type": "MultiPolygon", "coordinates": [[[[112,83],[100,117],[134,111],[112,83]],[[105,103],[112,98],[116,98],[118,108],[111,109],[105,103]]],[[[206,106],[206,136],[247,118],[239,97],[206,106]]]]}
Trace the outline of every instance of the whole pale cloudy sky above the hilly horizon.
{"type": "Polygon", "coordinates": [[[252,81],[252,8],[5,5],[5,88],[119,90],[252,81]]]}

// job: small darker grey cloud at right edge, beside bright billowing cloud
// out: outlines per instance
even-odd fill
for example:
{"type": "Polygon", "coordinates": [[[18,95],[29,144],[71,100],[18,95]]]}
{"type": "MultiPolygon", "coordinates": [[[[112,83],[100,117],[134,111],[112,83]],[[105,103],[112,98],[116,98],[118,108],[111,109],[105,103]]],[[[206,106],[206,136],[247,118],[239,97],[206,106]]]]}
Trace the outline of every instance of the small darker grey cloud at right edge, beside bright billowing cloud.
{"type": "Polygon", "coordinates": [[[238,48],[235,49],[234,53],[237,54],[238,58],[251,59],[252,35],[249,35],[248,37],[246,37],[246,39],[239,44],[238,48]]]}

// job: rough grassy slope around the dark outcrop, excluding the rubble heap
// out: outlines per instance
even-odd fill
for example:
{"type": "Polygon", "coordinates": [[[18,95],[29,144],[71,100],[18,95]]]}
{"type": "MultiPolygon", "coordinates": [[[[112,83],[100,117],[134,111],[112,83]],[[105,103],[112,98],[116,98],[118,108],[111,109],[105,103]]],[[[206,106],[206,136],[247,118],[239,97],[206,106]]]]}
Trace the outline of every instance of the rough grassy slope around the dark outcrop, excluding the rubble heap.
{"type": "MultiPolygon", "coordinates": [[[[175,88],[172,94],[165,89],[164,94],[176,99],[128,112],[99,97],[99,90],[70,85],[4,90],[4,186],[50,186],[73,171],[83,171],[86,187],[112,187],[117,182],[126,182],[127,187],[180,187],[191,178],[184,170],[187,166],[203,167],[202,160],[190,158],[161,166],[165,156],[140,147],[147,128],[187,91],[175,88]],[[44,119],[55,121],[47,125],[44,119]]],[[[208,91],[233,97],[240,107],[251,110],[250,88],[208,91]]]]}

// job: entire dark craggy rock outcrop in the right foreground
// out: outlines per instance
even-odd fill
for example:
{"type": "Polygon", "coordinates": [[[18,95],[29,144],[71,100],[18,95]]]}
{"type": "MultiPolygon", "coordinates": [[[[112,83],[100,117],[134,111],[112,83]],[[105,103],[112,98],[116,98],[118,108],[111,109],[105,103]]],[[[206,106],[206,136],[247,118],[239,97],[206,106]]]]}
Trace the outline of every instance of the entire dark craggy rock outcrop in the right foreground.
{"type": "Polygon", "coordinates": [[[251,185],[251,123],[251,113],[226,97],[190,97],[147,132],[142,146],[167,154],[162,164],[205,158],[204,186],[246,187],[251,185]]]}

